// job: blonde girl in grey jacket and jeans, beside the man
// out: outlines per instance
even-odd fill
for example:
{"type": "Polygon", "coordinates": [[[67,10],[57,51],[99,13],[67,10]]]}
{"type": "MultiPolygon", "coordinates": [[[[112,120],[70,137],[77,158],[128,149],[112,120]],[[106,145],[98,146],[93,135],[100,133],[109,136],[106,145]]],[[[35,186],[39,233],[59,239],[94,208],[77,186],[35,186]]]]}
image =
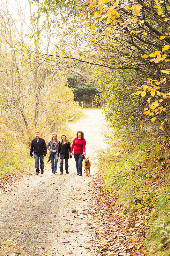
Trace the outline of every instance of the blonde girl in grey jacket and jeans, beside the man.
{"type": "Polygon", "coordinates": [[[49,157],[48,161],[51,160],[51,169],[53,173],[57,173],[57,163],[58,163],[58,145],[59,145],[60,140],[57,138],[56,132],[53,132],[51,134],[51,137],[48,141],[47,149],[49,150],[49,157]]]}

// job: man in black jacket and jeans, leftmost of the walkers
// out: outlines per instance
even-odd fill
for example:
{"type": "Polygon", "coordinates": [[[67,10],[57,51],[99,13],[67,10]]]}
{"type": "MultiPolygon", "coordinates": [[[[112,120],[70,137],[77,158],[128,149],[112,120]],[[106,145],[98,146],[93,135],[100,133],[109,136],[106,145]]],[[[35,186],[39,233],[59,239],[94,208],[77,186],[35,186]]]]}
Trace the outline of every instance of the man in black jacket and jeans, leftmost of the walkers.
{"type": "Polygon", "coordinates": [[[35,132],[35,139],[31,142],[30,156],[35,159],[35,174],[44,173],[44,156],[47,155],[47,145],[44,139],[40,138],[40,132],[35,132]],[[39,158],[40,158],[40,169],[39,169],[39,158]]]}

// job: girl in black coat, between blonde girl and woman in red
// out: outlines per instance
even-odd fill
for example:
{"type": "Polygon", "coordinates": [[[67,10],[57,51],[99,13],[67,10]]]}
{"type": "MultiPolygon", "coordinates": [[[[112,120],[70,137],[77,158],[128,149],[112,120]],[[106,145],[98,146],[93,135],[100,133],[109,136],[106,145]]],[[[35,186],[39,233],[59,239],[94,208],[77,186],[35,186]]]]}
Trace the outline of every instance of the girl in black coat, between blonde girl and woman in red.
{"type": "Polygon", "coordinates": [[[61,136],[61,141],[58,146],[58,157],[60,157],[60,175],[63,175],[63,162],[65,159],[65,170],[66,173],[69,174],[68,168],[68,159],[71,158],[72,156],[70,155],[71,151],[71,146],[70,146],[70,141],[67,140],[67,137],[65,134],[62,134],[61,136]]]}

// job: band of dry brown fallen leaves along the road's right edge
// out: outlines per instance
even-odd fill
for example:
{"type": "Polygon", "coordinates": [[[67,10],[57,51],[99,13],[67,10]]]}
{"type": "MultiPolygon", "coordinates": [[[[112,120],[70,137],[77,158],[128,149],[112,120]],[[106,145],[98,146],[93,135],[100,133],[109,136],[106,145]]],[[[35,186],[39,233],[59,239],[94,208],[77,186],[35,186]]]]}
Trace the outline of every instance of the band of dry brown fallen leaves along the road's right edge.
{"type": "Polygon", "coordinates": [[[92,242],[98,248],[98,256],[144,255],[142,245],[145,240],[145,219],[137,212],[129,215],[123,206],[116,205],[112,191],[105,189],[100,174],[96,174],[90,184],[92,221],[88,225],[93,230],[92,242]]]}

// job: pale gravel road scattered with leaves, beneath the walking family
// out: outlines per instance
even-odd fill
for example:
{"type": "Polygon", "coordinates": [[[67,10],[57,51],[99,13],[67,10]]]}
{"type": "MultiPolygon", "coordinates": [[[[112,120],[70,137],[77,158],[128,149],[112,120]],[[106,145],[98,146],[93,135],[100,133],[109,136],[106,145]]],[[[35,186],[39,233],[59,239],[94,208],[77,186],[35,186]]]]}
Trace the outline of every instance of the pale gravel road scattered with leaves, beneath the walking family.
{"type": "MultiPolygon", "coordinates": [[[[100,109],[84,110],[85,119],[70,124],[85,133],[86,156],[106,147],[100,132],[106,128],[100,109]]],[[[103,118],[104,119],[104,118],[103,118]]],[[[1,256],[97,255],[91,244],[86,209],[91,204],[88,190],[92,176],[76,175],[75,161],[69,160],[69,175],[30,175],[12,184],[0,195],[1,256]],[[72,213],[76,209],[77,212],[72,213]]],[[[59,166],[57,167],[59,170],[59,166]]],[[[91,174],[95,170],[92,166],[91,174]]]]}

